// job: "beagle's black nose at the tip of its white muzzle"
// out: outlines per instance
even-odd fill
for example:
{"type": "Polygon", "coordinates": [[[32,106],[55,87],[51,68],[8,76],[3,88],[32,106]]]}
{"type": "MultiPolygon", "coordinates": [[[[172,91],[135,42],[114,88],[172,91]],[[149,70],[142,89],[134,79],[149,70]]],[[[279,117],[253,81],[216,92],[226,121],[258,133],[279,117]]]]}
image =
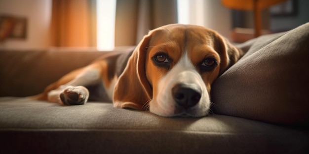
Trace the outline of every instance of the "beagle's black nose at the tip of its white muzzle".
{"type": "Polygon", "coordinates": [[[172,94],[176,103],[187,109],[199,102],[201,89],[194,84],[177,84],[172,88],[172,94]]]}

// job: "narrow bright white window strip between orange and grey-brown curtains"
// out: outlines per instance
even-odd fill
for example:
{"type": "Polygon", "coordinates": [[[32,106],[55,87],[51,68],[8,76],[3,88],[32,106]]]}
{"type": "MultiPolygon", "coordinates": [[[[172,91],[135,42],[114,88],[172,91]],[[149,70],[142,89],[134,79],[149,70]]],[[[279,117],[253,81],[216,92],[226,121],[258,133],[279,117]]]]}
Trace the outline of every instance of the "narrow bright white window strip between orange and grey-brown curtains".
{"type": "Polygon", "coordinates": [[[116,0],[97,0],[97,49],[115,48],[116,0]]]}

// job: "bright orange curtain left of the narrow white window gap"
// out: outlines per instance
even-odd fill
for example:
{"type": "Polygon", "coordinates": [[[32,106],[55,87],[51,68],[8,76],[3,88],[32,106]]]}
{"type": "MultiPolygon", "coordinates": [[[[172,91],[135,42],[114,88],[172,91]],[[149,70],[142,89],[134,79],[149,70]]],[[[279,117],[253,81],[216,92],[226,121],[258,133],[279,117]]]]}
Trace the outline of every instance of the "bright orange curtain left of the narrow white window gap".
{"type": "Polygon", "coordinates": [[[52,0],[51,46],[96,46],[95,0],[52,0]]]}

